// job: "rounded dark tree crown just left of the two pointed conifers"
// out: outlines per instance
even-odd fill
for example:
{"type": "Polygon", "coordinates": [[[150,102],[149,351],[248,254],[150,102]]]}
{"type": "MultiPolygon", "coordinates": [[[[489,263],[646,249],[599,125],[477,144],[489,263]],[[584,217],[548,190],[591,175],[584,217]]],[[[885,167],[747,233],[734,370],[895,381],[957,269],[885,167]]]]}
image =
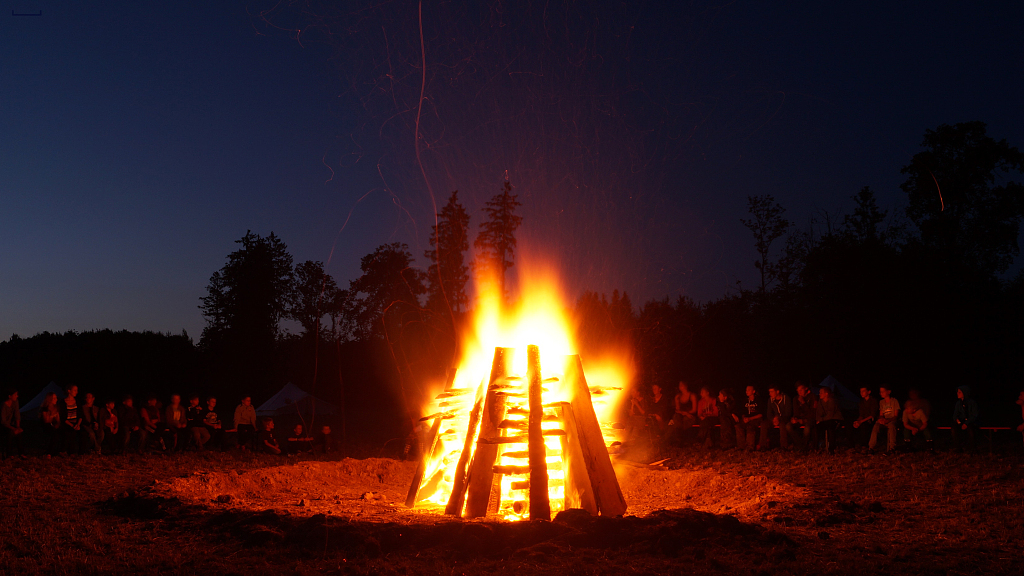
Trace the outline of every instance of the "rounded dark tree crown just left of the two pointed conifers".
{"type": "Polygon", "coordinates": [[[351,282],[355,334],[359,338],[396,336],[403,316],[419,314],[426,292],[423,273],[412,268],[413,255],[401,243],[385,244],[362,257],[362,276],[351,282]],[[398,329],[398,330],[394,330],[398,329]]]}

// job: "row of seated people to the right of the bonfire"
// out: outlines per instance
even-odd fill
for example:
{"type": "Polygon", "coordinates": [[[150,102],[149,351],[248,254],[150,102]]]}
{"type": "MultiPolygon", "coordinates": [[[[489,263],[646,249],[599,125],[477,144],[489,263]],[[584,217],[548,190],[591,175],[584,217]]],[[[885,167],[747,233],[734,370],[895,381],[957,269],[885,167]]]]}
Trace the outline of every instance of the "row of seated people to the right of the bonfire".
{"type": "MultiPolygon", "coordinates": [[[[978,403],[969,386],[956,389],[953,412],[943,423],[933,420],[931,403],[919,389],[910,389],[900,404],[890,387],[880,386],[879,398],[874,390],[861,387],[857,417],[849,423],[833,389],[814,390],[804,382],[797,382],[795,398],[773,385],[762,400],[755,386],[746,386],[741,402],[728,388],[714,395],[711,387],[701,386],[694,394],[683,381],[672,396],[658,384],[650,389],[649,398],[639,388],[631,392],[627,442],[647,437],[659,446],[695,442],[706,448],[755,451],[769,450],[777,438],[783,450],[833,453],[842,441],[874,453],[933,450],[939,426],[949,427],[954,449],[973,449],[978,433],[978,403]]],[[[1016,429],[1024,435],[1024,390],[1017,404],[1021,423],[1016,429]]]]}

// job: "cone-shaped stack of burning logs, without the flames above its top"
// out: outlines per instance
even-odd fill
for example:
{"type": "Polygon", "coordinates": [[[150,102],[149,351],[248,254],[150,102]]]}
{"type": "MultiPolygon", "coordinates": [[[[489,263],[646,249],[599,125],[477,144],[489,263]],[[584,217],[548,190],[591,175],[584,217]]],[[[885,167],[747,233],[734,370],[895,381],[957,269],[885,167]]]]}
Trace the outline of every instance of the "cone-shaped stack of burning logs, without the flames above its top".
{"type": "Polygon", "coordinates": [[[606,446],[615,426],[602,428],[594,408],[594,397],[620,388],[589,386],[578,355],[553,355],[543,373],[540,347],[525,352],[524,371],[514,368],[516,348],[496,347],[489,377],[475,387],[453,377],[437,396],[436,411],[422,419],[431,426],[408,506],[509,520],[550,520],[567,508],[626,511],[606,446]]]}

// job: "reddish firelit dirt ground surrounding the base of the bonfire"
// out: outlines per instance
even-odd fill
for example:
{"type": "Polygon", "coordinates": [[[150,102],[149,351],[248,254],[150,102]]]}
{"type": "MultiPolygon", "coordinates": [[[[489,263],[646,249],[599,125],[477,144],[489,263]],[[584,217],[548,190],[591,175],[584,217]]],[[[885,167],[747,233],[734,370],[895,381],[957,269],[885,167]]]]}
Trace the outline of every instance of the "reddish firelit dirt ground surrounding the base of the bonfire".
{"type": "Polygon", "coordinates": [[[248,454],[0,462],[0,574],[1024,574],[1019,453],[683,450],[622,519],[461,521],[413,464],[248,454]]]}

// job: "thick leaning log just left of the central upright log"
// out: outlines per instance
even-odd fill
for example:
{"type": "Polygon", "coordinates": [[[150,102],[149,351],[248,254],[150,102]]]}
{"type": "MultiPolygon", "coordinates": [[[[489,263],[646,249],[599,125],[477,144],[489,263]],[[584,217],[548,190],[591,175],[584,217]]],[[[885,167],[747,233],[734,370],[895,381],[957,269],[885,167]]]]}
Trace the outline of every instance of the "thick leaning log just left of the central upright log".
{"type": "MultiPolygon", "coordinates": [[[[490,363],[490,378],[487,381],[488,388],[490,384],[509,375],[514,355],[515,348],[495,348],[495,358],[490,363]]],[[[498,423],[505,419],[505,395],[489,389],[484,397],[483,411],[480,413],[478,436],[480,440],[476,443],[476,451],[469,464],[469,475],[466,479],[466,510],[463,515],[465,518],[480,518],[487,513],[499,447],[482,440],[499,436],[498,423]]]]}

